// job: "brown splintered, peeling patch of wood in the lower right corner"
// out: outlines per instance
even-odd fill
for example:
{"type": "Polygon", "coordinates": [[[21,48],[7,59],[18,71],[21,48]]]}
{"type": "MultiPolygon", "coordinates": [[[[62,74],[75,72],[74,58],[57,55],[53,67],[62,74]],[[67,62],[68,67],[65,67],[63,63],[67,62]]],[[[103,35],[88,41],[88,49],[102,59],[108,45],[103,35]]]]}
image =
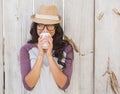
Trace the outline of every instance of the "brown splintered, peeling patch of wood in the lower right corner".
{"type": "MultiPolygon", "coordinates": [[[[108,57],[107,70],[106,70],[106,72],[103,74],[103,76],[106,75],[106,74],[109,75],[110,85],[111,85],[111,88],[112,88],[114,94],[120,94],[120,87],[119,87],[119,84],[118,84],[117,77],[116,77],[115,73],[110,70],[110,59],[109,59],[109,57],[108,57]]],[[[107,88],[108,88],[108,82],[107,82],[106,91],[107,91],[107,88]]]]}

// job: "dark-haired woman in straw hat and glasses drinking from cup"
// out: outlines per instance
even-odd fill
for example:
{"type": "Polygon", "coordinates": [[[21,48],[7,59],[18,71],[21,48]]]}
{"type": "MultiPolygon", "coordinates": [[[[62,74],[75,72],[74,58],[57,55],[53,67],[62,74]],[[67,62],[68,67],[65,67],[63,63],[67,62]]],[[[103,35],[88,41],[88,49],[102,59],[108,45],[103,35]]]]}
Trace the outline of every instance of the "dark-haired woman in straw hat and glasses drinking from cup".
{"type": "Polygon", "coordinates": [[[72,74],[73,48],[63,40],[56,6],[41,6],[31,16],[31,40],[21,47],[20,66],[24,87],[31,94],[64,94],[72,74]],[[43,38],[42,33],[49,33],[43,38]],[[44,48],[45,42],[47,48],[44,48]]]}

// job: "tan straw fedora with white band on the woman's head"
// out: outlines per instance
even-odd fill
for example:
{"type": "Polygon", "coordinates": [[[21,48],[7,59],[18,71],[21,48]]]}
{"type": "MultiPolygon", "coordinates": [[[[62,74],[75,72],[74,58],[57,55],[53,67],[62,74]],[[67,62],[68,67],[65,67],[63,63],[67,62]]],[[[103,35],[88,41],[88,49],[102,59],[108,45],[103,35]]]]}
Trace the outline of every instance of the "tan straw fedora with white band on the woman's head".
{"type": "Polygon", "coordinates": [[[38,12],[31,16],[33,22],[42,24],[57,24],[61,22],[61,17],[58,15],[57,7],[40,6],[38,12]]]}

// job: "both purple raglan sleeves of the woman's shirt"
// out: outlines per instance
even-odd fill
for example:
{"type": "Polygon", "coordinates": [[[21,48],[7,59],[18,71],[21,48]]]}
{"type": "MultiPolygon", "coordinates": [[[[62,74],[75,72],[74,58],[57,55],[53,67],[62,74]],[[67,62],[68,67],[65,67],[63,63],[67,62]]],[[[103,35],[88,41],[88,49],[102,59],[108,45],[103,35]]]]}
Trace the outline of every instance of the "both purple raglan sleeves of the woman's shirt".
{"type": "MultiPolygon", "coordinates": [[[[25,76],[31,71],[30,67],[30,58],[29,58],[29,50],[33,47],[37,47],[34,44],[28,43],[21,47],[20,49],[20,68],[21,68],[21,75],[22,75],[22,81],[23,85],[27,90],[32,90],[27,83],[25,82],[25,76]]],[[[63,70],[63,73],[67,76],[66,84],[61,88],[62,90],[65,90],[69,84],[72,74],[72,62],[74,58],[73,48],[71,45],[67,45],[64,49],[66,52],[66,68],[63,70]]]]}

